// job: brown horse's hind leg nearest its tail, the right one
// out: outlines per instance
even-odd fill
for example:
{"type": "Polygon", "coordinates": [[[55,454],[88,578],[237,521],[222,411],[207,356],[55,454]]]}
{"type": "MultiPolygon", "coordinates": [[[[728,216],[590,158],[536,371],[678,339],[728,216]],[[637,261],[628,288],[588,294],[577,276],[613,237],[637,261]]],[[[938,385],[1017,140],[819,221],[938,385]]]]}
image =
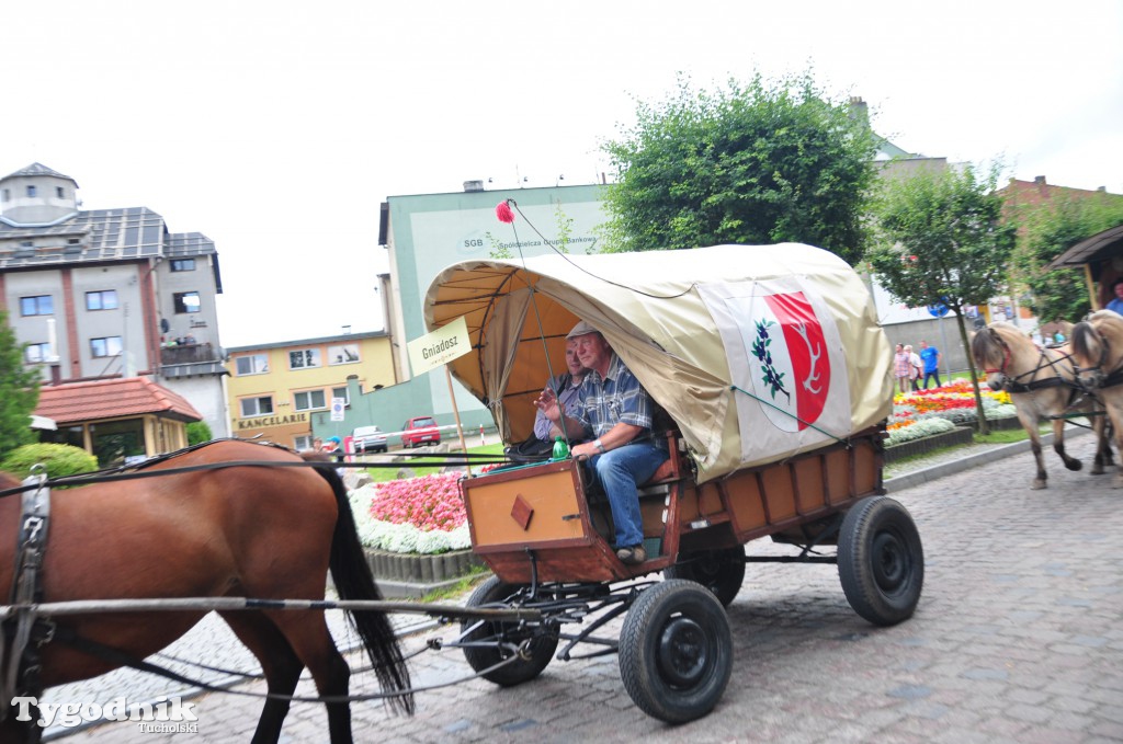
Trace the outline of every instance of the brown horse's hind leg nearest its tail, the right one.
{"type": "MultiPolygon", "coordinates": [[[[279,612],[270,616],[292,644],[316,680],[322,697],[345,697],[350,685],[350,668],[336,649],[328,624],[320,613],[279,612]]],[[[350,744],[350,704],[326,702],[331,744],[350,744]]]]}

